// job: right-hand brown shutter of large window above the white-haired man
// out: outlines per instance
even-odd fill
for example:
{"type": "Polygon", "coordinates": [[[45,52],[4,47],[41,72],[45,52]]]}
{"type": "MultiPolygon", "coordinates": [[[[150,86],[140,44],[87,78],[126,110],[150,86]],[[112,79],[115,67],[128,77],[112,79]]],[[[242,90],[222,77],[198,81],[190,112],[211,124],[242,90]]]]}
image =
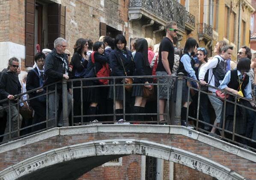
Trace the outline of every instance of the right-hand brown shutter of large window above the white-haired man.
{"type": "Polygon", "coordinates": [[[57,3],[48,4],[48,48],[54,49],[54,40],[65,39],[66,7],[57,3]]]}

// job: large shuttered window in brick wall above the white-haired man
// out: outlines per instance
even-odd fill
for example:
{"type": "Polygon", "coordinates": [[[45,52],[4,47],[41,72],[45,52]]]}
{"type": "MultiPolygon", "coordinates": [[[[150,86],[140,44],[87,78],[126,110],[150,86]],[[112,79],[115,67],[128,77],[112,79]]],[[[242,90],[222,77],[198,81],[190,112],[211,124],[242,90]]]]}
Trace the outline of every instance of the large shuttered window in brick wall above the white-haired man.
{"type": "Polygon", "coordinates": [[[36,44],[40,45],[41,50],[53,49],[56,38],[65,38],[65,6],[43,0],[26,0],[25,23],[25,65],[33,67],[36,44]]]}

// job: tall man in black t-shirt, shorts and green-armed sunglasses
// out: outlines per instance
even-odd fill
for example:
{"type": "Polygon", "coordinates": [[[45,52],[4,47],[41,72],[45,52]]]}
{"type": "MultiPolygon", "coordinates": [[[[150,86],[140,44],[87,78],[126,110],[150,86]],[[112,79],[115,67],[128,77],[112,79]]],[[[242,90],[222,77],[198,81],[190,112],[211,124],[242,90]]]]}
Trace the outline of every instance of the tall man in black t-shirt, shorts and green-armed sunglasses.
{"type": "MultiPolygon", "coordinates": [[[[177,36],[178,28],[177,24],[173,22],[167,23],[165,26],[166,37],[161,41],[159,46],[159,61],[158,67],[156,69],[156,75],[172,75],[172,69],[174,64],[174,46],[173,38],[177,36]]],[[[167,99],[171,98],[171,78],[164,77],[159,78],[159,83],[168,84],[159,85],[159,113],[163,114],[165,109],[165,102],[167,99]],[[168,98],[169,91],[169,98],[168,98]]],[[[160,115],[159,120],[164,124],[164,116],[160,115]]]]}

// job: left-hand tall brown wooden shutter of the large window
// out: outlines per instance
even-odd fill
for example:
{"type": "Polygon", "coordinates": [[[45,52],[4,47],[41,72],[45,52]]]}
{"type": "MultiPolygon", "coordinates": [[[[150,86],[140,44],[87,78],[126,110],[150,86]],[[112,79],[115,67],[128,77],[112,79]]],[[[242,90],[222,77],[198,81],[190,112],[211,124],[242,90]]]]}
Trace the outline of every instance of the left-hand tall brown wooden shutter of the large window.
{"type": "Polygon", "coordinates": [[[26,0],[26,58],[25,65],[33,67],[34,65],[34,23],[35,23],[35,0],[26,0]]]}

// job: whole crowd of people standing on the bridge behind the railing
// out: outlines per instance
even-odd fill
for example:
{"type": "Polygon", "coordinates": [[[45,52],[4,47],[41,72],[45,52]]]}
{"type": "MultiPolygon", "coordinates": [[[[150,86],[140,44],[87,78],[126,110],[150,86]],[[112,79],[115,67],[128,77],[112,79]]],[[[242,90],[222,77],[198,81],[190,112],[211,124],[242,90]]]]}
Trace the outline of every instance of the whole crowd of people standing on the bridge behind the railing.
{"type": "MultiPolygon", "coordinates": [[[[141,114],[157,112],[157,100],[152,97],[159,92],[158,103],[161,114],[159,124],[166,124],[167,119],[165,119],[164,113],[167,100],[176,100],[178,90],[175,76],[178,73],[183,73],[194,81],[183,81],[181,125],[192,128],[193,121],[186,120],[187,110],[189,108],[189,116],[196,117],[195,112],[199,103],[199,119],[206,123],[202,124],[201,128],[208,131],[209,135],[216,136],[220,133],[218,127],[221,128],[223,124],[226,130],[232,132],[235,116],[235,132],[256,139],[255,112],[237,106],[234,113],[234,104],[227,102],[226,111],[223,114],[223,101],[216,92],[216,88],[220,88],[247,99],[254,99],[256,54],[252,55],[250,48],[242,46],[238,51],[238,63],[236,64],[231,60],[233,47],[225,41],[218,41],[214,47],[216,55],[208,57],[208,50],[205,47],[199,47],[194,38],[188,38],[184,48],[174,44],[178,32],[176,23],[167,23],[165,31],[166,36],[160,44],[156,45],[150,38],[134,38],[130,44],[131,51],[123,35],[117,35],[114,39],[109,36],[100,37],[99,41],[94,43],[89,39],[79,38],[74,44],[72,56],[66,49],[67,41],[57,38],[54,41],[53,50],[43,49],[42,52],[36,53],[35,66],[28,71],[22,82],[18,78],[19,60],[15,57],[9,59],[8,67],[0,74],[0,98],[9,100],[1,103],[2,107],[8,107],[0,110],[1,118],[7,119],[7,121],[1,121],[1,134],[6,134],[3,138],[17,137],[18,127],[33,125],[27,130],[29,132],[44,129],[47,112],[50,120],[48,127],[63,126],[63,87],[61,83],[63,79],[84,78],[82,81],[74,80],[72,85],[68,83],[66,89],[68,114],[71,113],[73,103],[74,123],[113,121],[113,116],[96,116],[113,113],[116,114],[117,122],[125,120],[150,121],[154,117],[141,114]],[[104,76],[145,75],[159,76],[157,81],[161,85],[157,87],[158,90],[155,90],[156,87],[151,84],[155,82],[154,78],[116,78],[115,81],[111,78],[109,80],[86,80],[86,78],[104,76]],[[124,88],[122,86],[124,82],[133,85],[126,85],[124,88]],[[53,83],[57,84],[49,85],[53,83]],[[106,84],[110,86],[98,86],[106,84]],[[209,84],[211,87],[205,86],[205,84],[209,84]],[[44,87],[46,85],[48,85],[49,92],[57,90],[57,92],[49,93],[48,99],[45,95],[46,88],[44,87]],[[86,88],[79,88],[81,86],[86,86],[86,88]],[[74,88],[71,89],[71,87],[74,88]],[[191,90],[191,96],[188,97],[189,87],[200,87],[204,92],[200,93],[200,102],[197,102],[198,92],[196,91],[191,90]],[[26,94],[24,97],[22,96],[22,99],[17,99],[18,94],[27,91],[30,91],[28,93],[29,101],[26,101],[28,99],[26,94]],[[21,100],[24,102],[17,103],[21,100]],[[122,115],[124,100],[125,113],[134,114],[126,116],[125,120],[122,115]],[[46,102],[48,102],[48,110],[46,110],[46,102]],[[113,112],[113,104],[115,112],[113,112]],[[9,107],[9,105],[11,106],[9,107]],[[212,109],[216,117],[213,122],[210,116],[212,109]],[[90,116],[85,118],[81,117],[82,115],[90,116]],[[11,116],[11,124],[9,124],[9,116],[11,116]],[[223,119],[226,119],[225,123],[223,123],[223,119]],[[13,132],[10,135],[8,134],[9,129],[13,132]]],[[[246,107],[254,108],[256,106],[253,102],[244,99],[237,100],[232,95],[226,99],[232,102],[237,101],[246,107]]],[[[22,133],[29,133],[27,131],[24,130],[22,133]]],[[[230,133],[225,133],[225,136],[230,136],[230,133]]],[[[238,141],[247,143],[243,139],[238,139],[238,141]]]]}

